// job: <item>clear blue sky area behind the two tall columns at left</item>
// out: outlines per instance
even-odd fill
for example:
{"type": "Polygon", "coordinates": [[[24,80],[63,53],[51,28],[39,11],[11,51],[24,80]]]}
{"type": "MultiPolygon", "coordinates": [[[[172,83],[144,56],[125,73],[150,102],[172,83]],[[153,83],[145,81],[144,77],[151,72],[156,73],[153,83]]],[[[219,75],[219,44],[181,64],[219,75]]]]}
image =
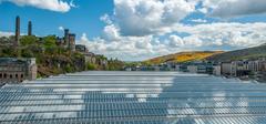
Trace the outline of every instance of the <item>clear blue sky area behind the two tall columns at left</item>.
{"type": "Polygon", "coordinates": [[[75,0],[75,8],[68,12],[49,11],[35,7],[20,7],[12,2],[0,4],[0,30],[12,32],[14,30],[14,18],[20,16],[21,30],[27,32],[27,22],[31,20],[34,33],[38,35],[61,34],[59,27],[71,29],[81,37],[83,32],[93,38],[101,34],[104,23],[100,17],[104,13],[112,13],[113,2],[111,0],[75,0]],[[93,10],[93,11],[91,11],[93,10]]]}

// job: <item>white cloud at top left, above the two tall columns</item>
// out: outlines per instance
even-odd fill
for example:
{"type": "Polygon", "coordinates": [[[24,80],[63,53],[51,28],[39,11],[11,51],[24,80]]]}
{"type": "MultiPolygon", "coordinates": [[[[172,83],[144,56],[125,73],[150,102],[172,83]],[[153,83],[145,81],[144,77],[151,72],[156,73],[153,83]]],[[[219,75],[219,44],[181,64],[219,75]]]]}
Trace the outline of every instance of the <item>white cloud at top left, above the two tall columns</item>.
{"type": "Polygon", "coordinates": [[[9,1],[21,7],[30,6],[57,12],[68,12],[72,7],[75,7],[73,1],[68,3],[63,0],[2,0],[2,1],[9,1]]]}

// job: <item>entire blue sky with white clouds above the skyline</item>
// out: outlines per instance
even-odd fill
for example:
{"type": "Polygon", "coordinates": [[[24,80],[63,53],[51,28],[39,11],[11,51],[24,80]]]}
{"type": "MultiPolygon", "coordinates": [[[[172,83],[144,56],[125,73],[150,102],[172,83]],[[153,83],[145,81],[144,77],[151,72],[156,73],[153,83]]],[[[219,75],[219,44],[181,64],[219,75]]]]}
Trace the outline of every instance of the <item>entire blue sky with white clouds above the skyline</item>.
{"type": "Polygon", "coordinates": [[[142,61],[181,51],[231,51],[266,43],[266,0],[0,0],[0,37],[63,35],[89,51],[142,61]]]}

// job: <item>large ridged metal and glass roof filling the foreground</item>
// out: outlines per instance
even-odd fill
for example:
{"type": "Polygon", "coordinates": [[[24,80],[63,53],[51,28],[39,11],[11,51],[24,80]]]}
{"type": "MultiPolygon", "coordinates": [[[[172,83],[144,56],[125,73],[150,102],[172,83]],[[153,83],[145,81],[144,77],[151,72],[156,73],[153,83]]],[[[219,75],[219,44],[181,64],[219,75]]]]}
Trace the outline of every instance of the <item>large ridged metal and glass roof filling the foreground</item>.
{"type": "Polygon", "coordinates": [[[178,72],[80,72],[7,84],[1,124],[265,124],[266,85],[178,72]]]}

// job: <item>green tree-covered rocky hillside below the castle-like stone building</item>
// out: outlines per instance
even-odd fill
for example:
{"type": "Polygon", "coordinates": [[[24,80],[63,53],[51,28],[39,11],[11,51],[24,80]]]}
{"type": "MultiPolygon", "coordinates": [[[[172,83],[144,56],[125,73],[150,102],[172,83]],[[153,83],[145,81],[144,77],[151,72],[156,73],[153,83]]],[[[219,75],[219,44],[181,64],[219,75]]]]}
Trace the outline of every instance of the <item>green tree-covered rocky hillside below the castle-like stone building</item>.
{"type": "Polygon", "coordinates": [[[103,55],[95,55],[95,63],[85,63],[84,55],[80,52],[57,45],[55,35],[44,38],[24,35],[20,45],[13,48],[13,37],[0,38],[0,58],[35,58],[38,76],[49,76],[86,70],[122,70],[123,62],[108,60],[103,55]],[[108,65],[102,62],[108,62],[108,65]]]}

